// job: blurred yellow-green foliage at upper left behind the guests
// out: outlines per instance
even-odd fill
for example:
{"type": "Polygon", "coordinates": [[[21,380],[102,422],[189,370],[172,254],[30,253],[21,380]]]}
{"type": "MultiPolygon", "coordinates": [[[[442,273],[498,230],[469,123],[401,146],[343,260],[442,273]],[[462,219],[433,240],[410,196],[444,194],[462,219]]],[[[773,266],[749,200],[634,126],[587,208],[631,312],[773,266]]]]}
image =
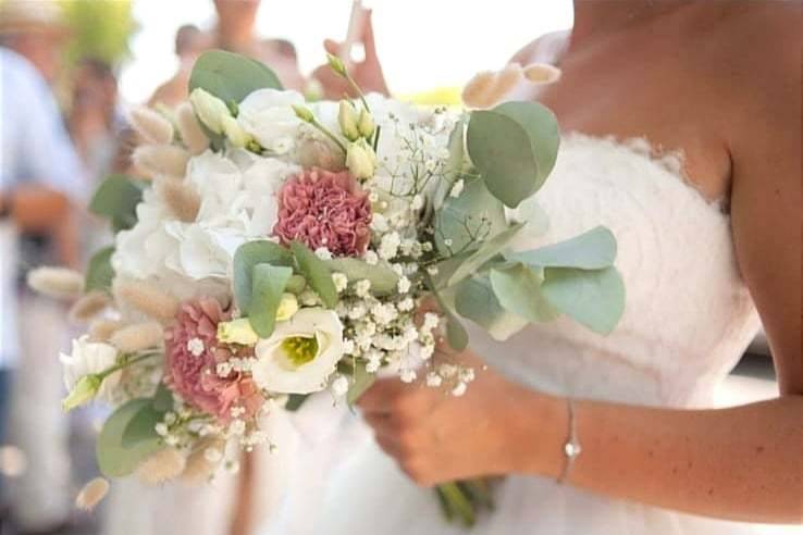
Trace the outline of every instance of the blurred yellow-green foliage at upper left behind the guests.
{"type": "Polygon", "coordinates": [[[99,58],[118,65],[128,58],[128,39],[136,30],[131,0],[61,0],[72,30],[66,59],[75,64],[99,58]]]}

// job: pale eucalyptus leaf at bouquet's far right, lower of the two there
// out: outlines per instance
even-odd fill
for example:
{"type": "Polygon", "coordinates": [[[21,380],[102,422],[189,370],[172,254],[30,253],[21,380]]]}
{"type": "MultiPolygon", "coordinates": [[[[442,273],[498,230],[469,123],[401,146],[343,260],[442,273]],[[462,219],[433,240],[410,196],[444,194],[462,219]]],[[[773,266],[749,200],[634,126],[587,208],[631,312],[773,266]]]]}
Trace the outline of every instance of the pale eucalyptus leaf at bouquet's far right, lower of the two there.
{"type": "Polygon", "coordinates": [[[615,268],[546,268],[541,291],[556,309],[601,334],[610,333],[625,312],[625,284],[615,268]]]}

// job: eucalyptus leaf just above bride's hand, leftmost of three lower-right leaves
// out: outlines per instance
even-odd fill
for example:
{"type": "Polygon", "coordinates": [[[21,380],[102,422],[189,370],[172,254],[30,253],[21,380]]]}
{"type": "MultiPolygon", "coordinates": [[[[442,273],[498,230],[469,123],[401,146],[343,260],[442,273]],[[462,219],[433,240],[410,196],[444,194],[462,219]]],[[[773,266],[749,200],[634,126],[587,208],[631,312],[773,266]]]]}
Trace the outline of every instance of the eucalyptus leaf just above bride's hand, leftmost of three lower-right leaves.
{"type": "Polygon", "coordinates": [[[472,277],[455,287],[455,309],[484,328],[495,340],[506,340],[524,328],[528,321],[505,310],[487,277],[472,277]]]}

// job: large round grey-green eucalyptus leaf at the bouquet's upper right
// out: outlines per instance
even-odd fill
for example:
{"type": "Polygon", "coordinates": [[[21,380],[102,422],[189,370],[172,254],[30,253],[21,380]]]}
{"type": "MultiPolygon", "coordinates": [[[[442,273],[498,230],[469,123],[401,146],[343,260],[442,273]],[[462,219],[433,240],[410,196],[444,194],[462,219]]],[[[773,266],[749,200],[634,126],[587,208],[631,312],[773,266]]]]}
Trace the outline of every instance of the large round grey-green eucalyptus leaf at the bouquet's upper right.
{"type": "Polygon", "coordinates": [[[536,102],[507,102],[471,113],[471,161],[489,191],[509,208],[533,195],[555,166],[560,133],[555,115],[536,102]]]}

